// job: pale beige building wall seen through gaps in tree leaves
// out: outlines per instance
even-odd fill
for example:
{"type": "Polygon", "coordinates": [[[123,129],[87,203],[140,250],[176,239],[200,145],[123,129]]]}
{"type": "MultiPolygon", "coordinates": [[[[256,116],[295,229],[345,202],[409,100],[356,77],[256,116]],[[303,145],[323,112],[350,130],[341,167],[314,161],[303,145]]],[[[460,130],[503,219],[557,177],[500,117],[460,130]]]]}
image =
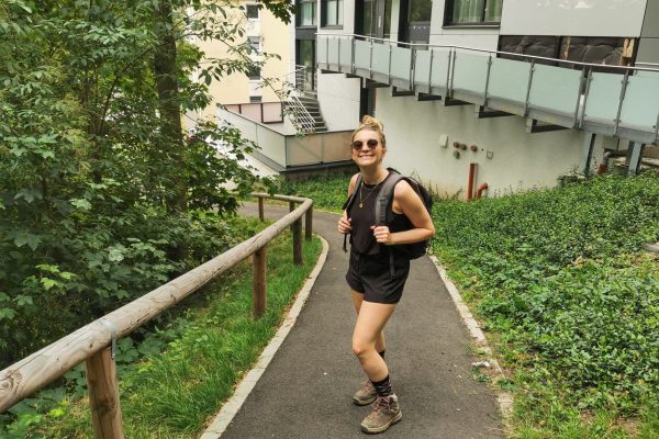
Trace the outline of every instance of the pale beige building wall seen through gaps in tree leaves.
{"type": "MultiPolygon", "coordinates": [[[[256,4],[254,1],[241,1],[239,4],[256,4]]],[[[291,70],[294,53],[291,47],[291,33],[294,32],[292,24],[284,24],[267,9],[259,11],[259,19],[256,21],[247,20],[243,12],[237,8],[228,13],[228,19],[241,22],[246,31],[245,38],[248,36],[258,36],[261,44],[261,52],[278,54],[281,59],[269,59],[261,69],[261,76],[265,78],[282,78],[291,70]]],[[[205,53],[208,58],[226,58],[227,46],[220,41],[194,42],[205,53]]],[[[292,81],[291,79],[289,79],[292,81]]],[[[213,117],[217,103],[236,104],[249,102],[249,95],[263,95],[263,102],[279,101],[279,98],[272,89],[265,87],[258,89],[259,81],[252,81],[244,74],[233,74],[213,82],[210,86],[210,93],[213,102],[205,109],[203,115],[213,117]]]]}

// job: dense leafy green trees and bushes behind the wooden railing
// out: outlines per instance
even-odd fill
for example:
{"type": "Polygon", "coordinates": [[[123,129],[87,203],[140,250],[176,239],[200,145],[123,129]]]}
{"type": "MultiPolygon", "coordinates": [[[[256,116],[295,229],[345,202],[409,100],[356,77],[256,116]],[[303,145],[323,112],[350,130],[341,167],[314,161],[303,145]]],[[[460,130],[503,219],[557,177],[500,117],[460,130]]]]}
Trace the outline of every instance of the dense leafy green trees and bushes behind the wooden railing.
{"type": "MultiPolygon", "coordinates": [[[[288,20],[290,2],[264,3],[288,20]]],[[[254,67],[228,10],[0,1],[0,368],[233,240],[196,212],[231,214],[250,190],[239,132],[198,121],[183,135],[212,78],[254,67]],[[234,56],[201,65],[190,37],[234,56]]]]}

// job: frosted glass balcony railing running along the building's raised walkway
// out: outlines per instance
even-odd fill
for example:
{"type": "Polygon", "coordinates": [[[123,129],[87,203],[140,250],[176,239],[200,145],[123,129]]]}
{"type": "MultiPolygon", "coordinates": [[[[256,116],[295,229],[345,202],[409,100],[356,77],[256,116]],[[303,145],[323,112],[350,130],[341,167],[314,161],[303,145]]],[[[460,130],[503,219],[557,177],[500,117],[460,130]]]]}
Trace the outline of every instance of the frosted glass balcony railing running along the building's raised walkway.
{"type": "Polygon", "coordinates": [[[521,55],[362,35],[317,34],[316,47],[321,69],[568,128],[646,144],[659,140],[659,66],[552,60],[560,61],[557,67],[540,57],[515,60],[521,55]]]}

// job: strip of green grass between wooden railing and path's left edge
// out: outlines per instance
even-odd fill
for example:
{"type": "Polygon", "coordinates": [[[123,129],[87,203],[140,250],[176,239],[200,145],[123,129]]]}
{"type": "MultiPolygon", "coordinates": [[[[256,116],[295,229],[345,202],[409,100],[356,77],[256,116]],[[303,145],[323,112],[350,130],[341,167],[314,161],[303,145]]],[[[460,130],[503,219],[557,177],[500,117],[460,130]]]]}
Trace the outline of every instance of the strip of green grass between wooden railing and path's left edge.
{"type": "MultiPolygon", "coordinates": [[[[275,335],[283,313],[315,264],[321,243],[304,243],[304,264],[292,263],[290,236],[268,247],[267,313],[252,318],[252,266],[243,262],[202,293],[208,306],[166,331],[164,351],[120,368],[120,393],[129,438],[190,438],[231,396],[275,335]]],[[[199,294],[199,293],[198,293],[199,294]]],[[[42,428],[48,438],[92,437],[87,399],[42,428]]]]}

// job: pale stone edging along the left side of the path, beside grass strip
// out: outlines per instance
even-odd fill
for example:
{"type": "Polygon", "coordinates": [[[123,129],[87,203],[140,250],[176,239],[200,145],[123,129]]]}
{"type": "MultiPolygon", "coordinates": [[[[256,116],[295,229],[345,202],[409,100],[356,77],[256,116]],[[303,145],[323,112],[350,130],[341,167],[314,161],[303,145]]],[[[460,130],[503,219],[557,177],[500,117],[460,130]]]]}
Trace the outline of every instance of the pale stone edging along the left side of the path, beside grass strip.
{"type": "Polygon", "coordinates": [[[277,329],[277,334],[275,334],[275,336],[270,339],[268,346],[266,346],[266,348],[261,352],[260,357],[256,362],[256,365],[252,370],[249,370],[249,372],[247,372],[245,376],[243,376],[243,380],[236,386],[234,394],[226,401],[226,403],[222,405],[222,408],[220,409],[217,415],[215,415],[209,427],[206,427],[206,429],[201,434],[199,439],[217,439],[222,437],[222,434],[224,432],[224,430],[226,430],[228,424],[238,413],[238,410],[243,406],[243,403],[245,402],[245,399],[247,399],[247,396],[249,395],[260,376],[264,374],[266,368],[275,357],[275,353],[277,353],[277,351],[283,344],[283,340],[286,339],[291,328],[298,320],[298,316],[302,312],[302,308],[304,307],[304,304],[309,299],[311,289],[315,284],[315,281],[323,266],[325,264],[325,260],[327,259],[327,252],[330,251],[330,244],[325,240],[325,238],[323,238],[320,235],[315,236],[321,240],[323,249],[321,251],[321,256],[319,257],[315,267],[313,268],[313,270],[306,278],[306,281],[298,292],[295,302],[293,302],[293,305],[291,306],[286,318],[279,326],[279,329],[277,329]]]}

